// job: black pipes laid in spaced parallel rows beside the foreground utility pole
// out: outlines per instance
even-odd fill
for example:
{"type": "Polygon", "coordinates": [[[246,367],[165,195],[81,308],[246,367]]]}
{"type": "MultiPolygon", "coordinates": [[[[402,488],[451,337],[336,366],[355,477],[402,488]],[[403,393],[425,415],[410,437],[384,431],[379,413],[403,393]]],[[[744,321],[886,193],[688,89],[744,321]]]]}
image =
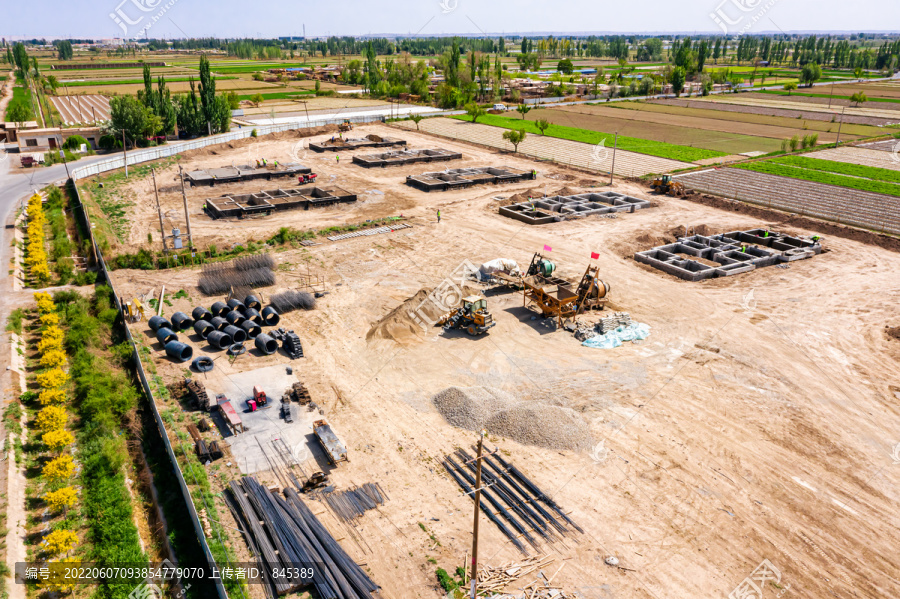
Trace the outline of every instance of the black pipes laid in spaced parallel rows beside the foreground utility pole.
{"type": "MultiPolygon", "coordinates": [[[[455,457],[446,456],[444,468],[474,499],[476,460],[463,449],[457,450],[455,457]]],[[[482,459],[481,498],[485,515],[526,555],[528,552],[520,538],[541,551],[540,543],[553,543],[567,536],[572,532],[570,527],[584,532],[556,502],[496,453],[482,459]]]]}

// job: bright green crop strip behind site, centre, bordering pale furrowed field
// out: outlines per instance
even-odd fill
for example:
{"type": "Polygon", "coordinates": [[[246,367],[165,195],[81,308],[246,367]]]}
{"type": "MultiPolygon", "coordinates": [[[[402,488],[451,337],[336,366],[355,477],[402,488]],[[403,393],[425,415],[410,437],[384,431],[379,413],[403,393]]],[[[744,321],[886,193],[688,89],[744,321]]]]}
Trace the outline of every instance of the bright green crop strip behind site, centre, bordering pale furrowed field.
{"type": "MultiPolygon", "coordinates": [[[[531,116],[531,119],[515,119],[508,118],[496,115],[485,115],[481,117],[481,122],[486,125],[491,125],[494,127],[504,127],[506,129],[522,129],[530,133],[534,136],[540,137],[555,137],[558,139],[566,139],[569,141],[577,141],[592,145],[597,145],[601,142],[607,148],[612,148],[614,144],[614,134],[603,131],[595,131],[590,129],[584,129],[579,127],[551,124],[550,127],[545,132],[545,135],[541,135],[540,130],[535,125],[535,118],[540,118],[540,115],[545,112],[545,110],[533,110],[529,112],[528,115],[531,116]],[[538,116],[535,117],[532,113],[538,113],[538,116]]],[[[549,111],[546,111],[549,112],[549,111]]],[[[453,117],[458,120],[471,120],[470,117],[462,115],[458,117],[453,117]]],[[[564,117],[568,118],[568,117],[564,117]]],[[[549,119],[548,119],[549,120],[549,119]]],[[[571,119],[569,121],[572,124],[575,124],[575,119],[571,119]]],[[[618,139],[618,148],[620,150],[628,150],[631,152],[639,152],[641,154],[648,154],[650,156],[657,156],[659,158],[668,158],[670,160],[679,160],[683,162],[692,162],[694,160],[705,160],[707,158],[718,158],[720,156],[724,156],[726,153],[715,150],[707,150],[703,148],[693,148],[685,145],[675,145],[671,143],[665,143],[660,141],[655,141],[652,139],[639,139],[635,137],[629,137],[626,135],[619,135],[618,139]]],[[[657,172],[657,171],[653,171],[657,172]]]]}

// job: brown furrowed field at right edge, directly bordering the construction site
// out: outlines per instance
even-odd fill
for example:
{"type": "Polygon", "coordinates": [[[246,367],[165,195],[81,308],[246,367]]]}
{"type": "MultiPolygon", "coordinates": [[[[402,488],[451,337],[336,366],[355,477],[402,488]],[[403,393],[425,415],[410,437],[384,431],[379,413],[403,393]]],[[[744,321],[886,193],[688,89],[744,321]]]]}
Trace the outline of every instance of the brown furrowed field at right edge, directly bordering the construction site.
{"type": "MultiPolygon", "coordinates": [[[[759,164],[759,163],[757,163],[759,164]]],[[[784,167],[788,168],[788,167],[784,167]]],[[[900,234],[900,199],[737,168],[679,175],[685,186],[846,225],[900,234]]]]}

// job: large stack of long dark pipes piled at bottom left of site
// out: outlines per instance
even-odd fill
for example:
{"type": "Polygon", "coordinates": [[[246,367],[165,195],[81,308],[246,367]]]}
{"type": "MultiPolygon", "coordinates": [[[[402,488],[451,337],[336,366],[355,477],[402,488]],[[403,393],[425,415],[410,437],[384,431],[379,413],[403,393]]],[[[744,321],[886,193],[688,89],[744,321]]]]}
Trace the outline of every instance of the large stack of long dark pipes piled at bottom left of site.
{"type": "Polygon", "coordinates": [[[294,489],[285,489],[282,496],[248,476],[231,481],[229,507],[278,595],[313,586],[322,599],[371,599],[380,588],[344,552],[294,489]],[[312,569],[313,574],[311,578],[272,577],[271,572],[279,568],[312,569]]]}

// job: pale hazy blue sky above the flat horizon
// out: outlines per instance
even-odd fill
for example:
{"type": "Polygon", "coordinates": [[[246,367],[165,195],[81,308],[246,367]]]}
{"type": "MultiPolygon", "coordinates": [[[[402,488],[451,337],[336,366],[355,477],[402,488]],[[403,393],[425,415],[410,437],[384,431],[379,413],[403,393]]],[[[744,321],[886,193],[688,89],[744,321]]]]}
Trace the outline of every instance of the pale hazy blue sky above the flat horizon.
{"type": "Polygon", "coordinates": [[[275,37],[511,32],[885,31],[896,0],[43,0],[6,2],[0,36],[275,37]],[[112,15],[112,16],[111,16],[112,15]],[[161,15],[161,16],[160,16],[161,15]],[[713,18],[714,15],[715,18],[713,18]],[[114,18],[115,17],[115,18],[114,18]],[[153,19],[156,21],[153,22],[153,19]],[[118,21],[118,22],[117,22],[118,21]],[[717,22],[718,21],[718,22],[717,22]]]}

